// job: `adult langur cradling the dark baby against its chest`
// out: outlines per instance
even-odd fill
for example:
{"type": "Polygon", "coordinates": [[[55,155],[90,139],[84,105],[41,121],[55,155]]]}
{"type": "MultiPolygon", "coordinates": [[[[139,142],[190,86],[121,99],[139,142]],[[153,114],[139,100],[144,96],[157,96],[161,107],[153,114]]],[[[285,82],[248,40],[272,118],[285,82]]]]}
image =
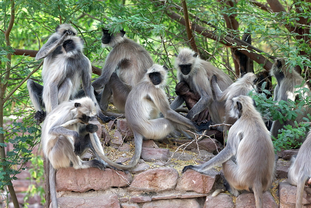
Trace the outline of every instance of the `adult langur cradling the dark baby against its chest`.
{"type": "MultiPolygon", "coordinates": [[[[208,108],[211,120],[216,124],[224,122],[225,101],[218,102],[211,88],[210,80],[213,75],[218,78],[218,85],[223,91],[229,87],[233,81],[228,74],[212,66],[208,61],[200,59],[193,50],[184,48],[180,50],[176,60],[177,78],[179,82],[188,83],[190,89],[197,92],[201,98],[188,112],[186,118],[193,119],[195,115],[208,108]]],[[[171,104],[175,110],[183,104],[182,97],[177,96],[171,104]]]]}

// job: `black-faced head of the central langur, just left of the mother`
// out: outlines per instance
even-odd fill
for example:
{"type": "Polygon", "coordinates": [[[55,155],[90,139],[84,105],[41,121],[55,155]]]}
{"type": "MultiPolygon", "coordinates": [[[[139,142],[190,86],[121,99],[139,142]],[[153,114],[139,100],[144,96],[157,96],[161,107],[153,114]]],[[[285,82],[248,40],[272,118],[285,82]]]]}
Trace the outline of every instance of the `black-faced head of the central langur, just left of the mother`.
{"type": "Polygon", "coordinates": [[[147,70],[145,80],[150,80],[156,87],[165,87],[167,70],[165,65],[153,64],[152,67],[147,70]]]}

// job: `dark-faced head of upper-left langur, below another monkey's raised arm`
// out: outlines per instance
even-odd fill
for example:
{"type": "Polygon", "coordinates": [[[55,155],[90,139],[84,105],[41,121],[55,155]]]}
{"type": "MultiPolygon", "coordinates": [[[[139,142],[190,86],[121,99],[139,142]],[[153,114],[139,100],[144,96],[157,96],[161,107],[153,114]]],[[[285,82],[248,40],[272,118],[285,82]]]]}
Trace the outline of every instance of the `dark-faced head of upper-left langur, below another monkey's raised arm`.
{"type": "Polygon", "coordinates": [[[66,56],[72,56],[81,53],[83,50],[84,40],[81,37],[68,35],[63,41],[62,52],[66,56]]]}

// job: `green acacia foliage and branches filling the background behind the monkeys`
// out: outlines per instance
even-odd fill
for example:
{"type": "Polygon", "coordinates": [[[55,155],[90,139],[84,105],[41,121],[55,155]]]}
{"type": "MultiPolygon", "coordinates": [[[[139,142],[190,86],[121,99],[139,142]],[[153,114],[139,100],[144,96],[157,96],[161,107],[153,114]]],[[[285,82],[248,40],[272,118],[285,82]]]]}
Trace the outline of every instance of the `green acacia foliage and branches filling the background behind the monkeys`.
{"type": "MultiPolygon", "coordinates": [[[[9,143],[14,144],[14,150],[7,152],[5,158],[2,157],[0,188],[5,188],[10,184],[11,179],[16,179],[15,174],[18,171],[14,172],[12,167],[21,166],[30,159],[30,150],[39,139],[40,128],[34,129],[35,122],[32,120],[34,109],[28,97],[26,84],[23,82],[41,62],[33,58],[36,50],[39,50],[60,23],[71,23],[77,28],[78,35],[85,40],[86,56],[91,60],[92,65],[97,67],[103,65],[109,53],[109,49],[103,50],[100,47],[99,28],[109,28],[111,32],[123,28],[129,38],[146,47],[156,63],[165,63],[170,67],[170,78],[166,88],[169,97],[174,95],[174,85],[177,82],[176,71],[173,68],[173,55],[178,53],[181,47],[193,46],[190,42],[196,45],[202,59],[211,61],[232,78],[239,75],[242,65],[240,58],[243,54],[246,55],[254,61],[253,68],[247,70],[258,74],[262,82],[266,81],[265,89],[269,92],[276,82],[267,72],[272,65],[271,58],[274,57],[289,57],[289,64],[295,67],[309,83],[311,66],[309,1],[187,0],[182,2],[186,4],[182,5],[177,0],[6,0],[1,2],[0,108],[3,115],[0,116],[4,118],[4,122],[11,122],[4,123],[0,118],[0,139],[2,139],[0,150],[9,143]],[[183,13],[185,6],[188,9],[187,14],[183,13]],[[14,8],[13,13],[12,8],[14,8]],[[190,30],[188,34],[187,22],[184,21],[185,15],[188,15],[191,23],[188,25],[192,32],[190,30]],[[12,31],[7,32],[6,39],[5,32],[10,26],[10,21],[14,24],[12,31]],[[244,34],[251,35],[251,43],[250,39],[242,41],[244,34]],[[189,37],[192,39],[189,40],[189,37]],[[25,54],[22,55],[23,53],[25,54]],[[15,125],[12,124],[12,121],[21,118],[24,118],[22,122],[20,120],[15,125]],[[21,137],[15,137],[18,131],[21,137]],[[6,171],[3,171],[3,168],[6,171]]],[[[31,78],[40,83],[40,74],[41,69],[31,78]]],[[[96,76],[94,75],[94,78],[96,76]]],[[[264,88],[261,90],[263,91],[264,88]]],[[[259,98],[256,99],[259,102],[259,98]]],[[[262,105],[269,102],[265,100],[262,105]]],[[[266,105],[273,107],[274,104],[266,105]]],[[[283,107],[286,108],[285,105],[283,107]]],[[[282,117],[278,115],[279,118],[282,117]]],[[[286,115],[295,117],[292,116],[293,113],[286,115]]],[[[273,118],[273,115],[270,117],[273,118]]],[[[276,115],[274,119],[279,118],[276,115]]],[[[26,168],[26,166],[21,167],[26,168]]]]}

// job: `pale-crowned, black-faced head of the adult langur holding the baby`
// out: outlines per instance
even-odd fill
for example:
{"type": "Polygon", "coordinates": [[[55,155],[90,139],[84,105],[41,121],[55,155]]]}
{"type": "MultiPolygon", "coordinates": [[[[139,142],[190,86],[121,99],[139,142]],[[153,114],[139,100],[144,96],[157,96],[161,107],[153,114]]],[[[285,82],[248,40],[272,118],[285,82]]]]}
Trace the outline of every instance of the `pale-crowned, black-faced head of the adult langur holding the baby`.
{"type": "Polygon", "coordinates": [[[197,53],[188,48],[180,50],[175,60],[175,65],[183,75],[188,75],[193,71],[193,65],[196,64],[196,60],[199,59],[197,53]]]}

